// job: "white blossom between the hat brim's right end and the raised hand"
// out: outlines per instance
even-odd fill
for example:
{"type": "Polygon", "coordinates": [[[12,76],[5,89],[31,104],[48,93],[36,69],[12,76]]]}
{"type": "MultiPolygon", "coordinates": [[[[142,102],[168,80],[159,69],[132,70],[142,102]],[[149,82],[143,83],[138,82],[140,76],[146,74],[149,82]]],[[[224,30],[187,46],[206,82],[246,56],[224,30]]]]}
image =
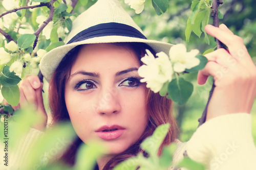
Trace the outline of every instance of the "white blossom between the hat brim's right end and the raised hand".
{"type": "Polygon", "coordinates": [[[169,57],[174,64],[175,72],[183,72],[185,69],[193,68],[200,64],[200,60],[196,58],[199,54],[199,50],[191,50],[187,52],[187,48],[184,44],[177,44],[170,48],[169,57]]]}

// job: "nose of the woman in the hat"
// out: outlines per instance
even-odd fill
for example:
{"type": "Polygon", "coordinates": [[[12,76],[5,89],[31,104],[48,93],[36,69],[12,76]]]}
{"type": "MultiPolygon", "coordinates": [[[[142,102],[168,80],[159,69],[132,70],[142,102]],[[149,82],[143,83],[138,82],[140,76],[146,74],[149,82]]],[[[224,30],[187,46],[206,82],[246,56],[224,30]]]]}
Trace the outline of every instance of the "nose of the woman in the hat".
{"type": "Polygon", "coordinates": [[[96,112],[100,114],[118,113],[121,109],[118,92],[116,88],[102,90],[99,94],[98,106],[96,112]]]}

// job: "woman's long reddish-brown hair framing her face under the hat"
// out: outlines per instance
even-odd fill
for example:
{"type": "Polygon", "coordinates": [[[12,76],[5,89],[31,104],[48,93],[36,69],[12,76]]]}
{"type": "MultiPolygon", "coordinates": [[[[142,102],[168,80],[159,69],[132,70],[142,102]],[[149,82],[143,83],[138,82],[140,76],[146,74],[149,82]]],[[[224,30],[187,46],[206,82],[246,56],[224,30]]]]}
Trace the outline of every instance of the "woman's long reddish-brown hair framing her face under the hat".
{"type": "MultiPolygon", "coordinates": [[[[152,50],[150,46],[145,43],[113,43],[115,45],[127,46],[134,50],[134,52],[138,56],[138,60],[140,61],[141,57],[145,54],[145,49],[150,50],[153,54],[155,52],[152,50]]],[[[60,62],[57,69],[55,70],[49,85],[49,105],[53,117],[53,124],[57,122],[70,121],[69,113],[65,103],[65,83],[66,80],[69,79],[70,71],[72,65],[74,64],[81,45],[76,46],[71,50],[60,62]]],[[[140,62],[142,65],[143,63],[140,62]]],[[[149,88],[146,89],[146,109],[148,111],[148,125],[143,133],[143,135],[139,138],[139,140],[133,144],[129,149],[125,152],[113,157],[106,165],[104,166],[104,170],[112,169],[115,165],[120,163],[121,161],[136,156],[139,152],[143,151],[140,149],[140,143],[148,136],[151,136],[154,130],[162,124],[169,123],[170,128],[168,134],[166,135],[160,150],[159,154],[162,152],[162,148],[164,145],[170,144],[177,138],[177,124],[175,118],[172,115],[173,110],[173,102],[171,100],[166,99],[159,95],[159,93],[154,93],[149,88]]],[[[63,162],[69,163],[70,165],[74,165],[75,157],[77,149],[79,145],[82,143],[81,139],[77,136],[76,140],[72,145],[67,149],[67,151],[61,156],[61,160],[63,162]]],[[[146,153],[144,153],[146,155],[146,153]]]]}

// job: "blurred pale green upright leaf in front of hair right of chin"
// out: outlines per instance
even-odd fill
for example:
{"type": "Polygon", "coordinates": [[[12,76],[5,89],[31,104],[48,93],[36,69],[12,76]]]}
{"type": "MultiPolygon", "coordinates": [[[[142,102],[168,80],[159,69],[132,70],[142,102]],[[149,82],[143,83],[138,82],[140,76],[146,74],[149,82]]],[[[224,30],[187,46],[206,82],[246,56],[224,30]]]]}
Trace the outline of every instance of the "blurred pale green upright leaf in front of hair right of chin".
{"type": "Polygon", "coordinates": [[[156,156],[166,134],[168,133],[169,127],[169,124],[163,124],[158,126],[157,129],[154,131],[153,135],[147,137],[141,143],[141,148],[151,156],[156,156]]]}

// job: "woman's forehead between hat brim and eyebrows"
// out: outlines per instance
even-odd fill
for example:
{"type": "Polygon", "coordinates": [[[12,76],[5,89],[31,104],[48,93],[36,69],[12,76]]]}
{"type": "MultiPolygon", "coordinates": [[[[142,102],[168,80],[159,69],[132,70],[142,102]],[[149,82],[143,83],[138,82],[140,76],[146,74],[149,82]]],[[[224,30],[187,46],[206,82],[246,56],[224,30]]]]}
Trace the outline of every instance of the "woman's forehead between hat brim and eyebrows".
{"type": "Polygon", "coordinates": [[[115,71],[129,67],[139,67],[136,53],[128,45],[112,43],[86,44],[80,48],[72,72],[81,69],[87,71],[115,71]]]}

